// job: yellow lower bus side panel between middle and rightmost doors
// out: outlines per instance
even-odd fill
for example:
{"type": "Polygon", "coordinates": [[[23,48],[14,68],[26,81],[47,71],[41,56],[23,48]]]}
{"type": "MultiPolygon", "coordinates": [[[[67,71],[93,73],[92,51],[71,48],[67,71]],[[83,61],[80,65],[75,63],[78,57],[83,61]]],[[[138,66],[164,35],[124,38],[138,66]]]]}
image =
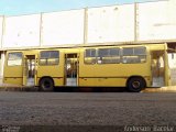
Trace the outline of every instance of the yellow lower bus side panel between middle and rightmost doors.
{"type": "Polygon", "coordinates": [[[79,86],[125,87],[131,76],[141,76],[151,86],[151,65],[141,64],[85,64],[84,52],[79,62],[79,86]]]}

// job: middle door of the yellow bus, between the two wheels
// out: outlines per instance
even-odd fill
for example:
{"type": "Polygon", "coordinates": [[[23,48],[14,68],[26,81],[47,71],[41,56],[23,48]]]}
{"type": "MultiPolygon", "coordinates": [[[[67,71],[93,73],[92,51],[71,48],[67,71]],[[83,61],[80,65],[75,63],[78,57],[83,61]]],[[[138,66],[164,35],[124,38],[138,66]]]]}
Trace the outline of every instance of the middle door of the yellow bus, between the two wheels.
{"type": "Polygon", "coordinates": [[[65,54],[65,86],[78,85],[78,55],[65,54]]]}

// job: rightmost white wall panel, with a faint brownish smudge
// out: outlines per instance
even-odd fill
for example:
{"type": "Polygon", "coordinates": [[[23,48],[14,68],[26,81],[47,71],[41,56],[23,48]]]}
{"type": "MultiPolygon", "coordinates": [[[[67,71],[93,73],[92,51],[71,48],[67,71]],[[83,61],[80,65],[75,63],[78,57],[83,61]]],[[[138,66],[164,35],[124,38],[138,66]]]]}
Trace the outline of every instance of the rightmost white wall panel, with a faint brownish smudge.
{"type": "Polygon", "coordinates": [[[176,4],[172,1],[139,3],[139,41],[176,40],[176,4]]]}

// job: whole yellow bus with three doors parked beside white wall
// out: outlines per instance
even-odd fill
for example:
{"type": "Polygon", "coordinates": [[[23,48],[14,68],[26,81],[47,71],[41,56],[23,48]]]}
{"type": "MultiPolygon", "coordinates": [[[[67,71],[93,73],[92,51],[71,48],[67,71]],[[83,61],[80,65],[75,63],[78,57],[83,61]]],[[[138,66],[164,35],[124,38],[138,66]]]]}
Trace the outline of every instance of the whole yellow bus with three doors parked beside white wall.
{"type": "Polygon", "coordinates": [[[8,51],[4,84],[54,87],[145,87],[170,84],[167,44],[8,51]]]}

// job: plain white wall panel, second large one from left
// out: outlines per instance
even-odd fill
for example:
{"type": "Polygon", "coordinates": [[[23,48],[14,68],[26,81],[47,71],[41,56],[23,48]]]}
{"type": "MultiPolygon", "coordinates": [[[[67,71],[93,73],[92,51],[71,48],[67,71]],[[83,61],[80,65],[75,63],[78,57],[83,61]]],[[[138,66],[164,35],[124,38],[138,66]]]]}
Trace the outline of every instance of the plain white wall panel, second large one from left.
{"type": "Polygon", "coordinates": [[[42,45],[84,43],[85,10],[42,14],[42,45]]]}

